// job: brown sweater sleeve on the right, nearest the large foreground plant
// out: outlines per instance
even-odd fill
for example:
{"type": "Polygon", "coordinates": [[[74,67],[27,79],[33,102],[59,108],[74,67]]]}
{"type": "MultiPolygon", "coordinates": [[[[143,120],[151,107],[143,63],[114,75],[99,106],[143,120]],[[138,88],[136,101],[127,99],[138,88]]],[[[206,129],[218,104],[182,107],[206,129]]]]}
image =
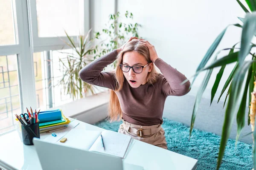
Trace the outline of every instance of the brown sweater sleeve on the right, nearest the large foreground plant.
{"type": "Polygon", "coordinates": [[[160,84],[162,85],[161,91],[163,94],[166,96],[183,96],[190,91],[189,81],[180,85],[180,83],[187,79],[184,74],[164,62],[163,59],[158,58],[154,63],[163,74],[163,78],[160,79],[162,81],[160,84]]]}

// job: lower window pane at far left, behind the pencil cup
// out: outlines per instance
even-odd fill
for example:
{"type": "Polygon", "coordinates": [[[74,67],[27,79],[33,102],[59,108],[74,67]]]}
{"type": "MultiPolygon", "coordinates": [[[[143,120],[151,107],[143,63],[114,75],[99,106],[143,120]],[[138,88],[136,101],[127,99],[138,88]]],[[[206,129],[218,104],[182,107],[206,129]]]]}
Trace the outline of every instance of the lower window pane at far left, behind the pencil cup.
{"type": "Polygon", "coordinates": [[[20,111],[17,55],[0,56],[0,133],[15,128],[20,111]]]}

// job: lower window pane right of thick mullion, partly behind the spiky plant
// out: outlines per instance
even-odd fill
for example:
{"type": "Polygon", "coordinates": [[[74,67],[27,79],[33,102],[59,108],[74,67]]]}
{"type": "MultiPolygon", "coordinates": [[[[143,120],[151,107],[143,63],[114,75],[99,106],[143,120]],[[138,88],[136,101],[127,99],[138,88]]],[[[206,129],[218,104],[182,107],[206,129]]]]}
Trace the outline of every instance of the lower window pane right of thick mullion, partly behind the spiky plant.
{"type": "MultiPolygon", "coordinates": [[[[76,56],[73,55],[73,52],[72,49],[66,49],[33,54],[38,109],[45,110],[76,100],[76,98],[73,99],[70,94],[67,94],[67,86],[69,84],[60,84],[67,68],[69,68],[67,56],[76,56]]],[[[70,79],[70,75],[66,74],[65,78],[66,80],[70,79]]],[[[95,86],[93,89],[95,94],[108,91],[107,88],[95,88],[95,86]]],[[[88,90],[87,93],[82,93],[82,95],[89,96],[92,93],[88,90]]]]}

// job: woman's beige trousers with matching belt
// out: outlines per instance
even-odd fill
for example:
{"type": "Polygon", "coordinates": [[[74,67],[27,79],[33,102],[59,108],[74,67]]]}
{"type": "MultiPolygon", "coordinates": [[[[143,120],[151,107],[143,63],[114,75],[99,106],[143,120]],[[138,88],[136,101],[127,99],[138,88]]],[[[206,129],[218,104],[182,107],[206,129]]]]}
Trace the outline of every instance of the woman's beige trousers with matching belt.
{"type": "Polygon", "coordinates": [[[123,119],[122,122],[123,123],[119,126],[119,133],[131,136],[133,139],[167,149],[166,138],[164,136],[165,132],[161,127],[161,124],[140,126],[128,123],[123,119]]]}

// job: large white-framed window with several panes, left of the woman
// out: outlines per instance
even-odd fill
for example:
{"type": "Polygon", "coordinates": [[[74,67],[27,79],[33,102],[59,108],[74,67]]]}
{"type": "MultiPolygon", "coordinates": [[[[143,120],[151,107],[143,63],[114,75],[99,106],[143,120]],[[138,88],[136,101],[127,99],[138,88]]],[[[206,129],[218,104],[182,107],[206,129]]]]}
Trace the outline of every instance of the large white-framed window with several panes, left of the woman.
{"type": "Polygon", "coordinates": [[[56,82],[62,73],[55,59],[57,51],[68,50],[61,40],[67,41],[64,30],[75,40],[79,31],[89,30],[89,0],[0,0],[0,4],[0,133],[4,133],[14,128],[14,113],[24,113],[26,107],[44,110],[72,101],[69,95],[60,95],[56,82]]]}

